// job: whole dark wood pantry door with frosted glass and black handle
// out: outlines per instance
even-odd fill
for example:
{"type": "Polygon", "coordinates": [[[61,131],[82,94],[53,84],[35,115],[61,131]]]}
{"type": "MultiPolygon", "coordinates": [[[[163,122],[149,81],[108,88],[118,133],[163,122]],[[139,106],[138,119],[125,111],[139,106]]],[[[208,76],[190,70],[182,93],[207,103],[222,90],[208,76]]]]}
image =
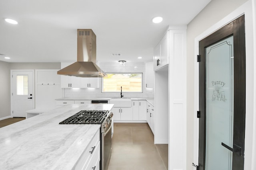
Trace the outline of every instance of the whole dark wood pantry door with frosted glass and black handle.
{"type": "Polygon", "coordinates": [[[199,42],[199,170],[243,170],[244,16],[199,42]]]}

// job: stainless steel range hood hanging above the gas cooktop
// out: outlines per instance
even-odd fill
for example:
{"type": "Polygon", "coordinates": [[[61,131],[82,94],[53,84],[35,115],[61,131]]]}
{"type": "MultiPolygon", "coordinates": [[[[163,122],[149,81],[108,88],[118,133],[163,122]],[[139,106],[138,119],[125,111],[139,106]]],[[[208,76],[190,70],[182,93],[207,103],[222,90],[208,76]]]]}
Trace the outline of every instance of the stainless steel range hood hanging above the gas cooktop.
{"type": "Polygon", "coordinates": [[[96,35],[92,29],[77,30],[77,62],[58,70],[57,74],[77,77],[105,77],[96,65],[96,35]]]}

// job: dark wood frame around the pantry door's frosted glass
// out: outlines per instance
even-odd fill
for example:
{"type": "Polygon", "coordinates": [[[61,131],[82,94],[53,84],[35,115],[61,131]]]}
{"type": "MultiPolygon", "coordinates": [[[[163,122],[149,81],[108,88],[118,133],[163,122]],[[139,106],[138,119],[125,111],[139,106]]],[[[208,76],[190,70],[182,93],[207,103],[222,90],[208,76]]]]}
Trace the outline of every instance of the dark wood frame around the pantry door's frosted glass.
{"type": "MultiPolygon", "coordinates": [[[[208,37],[199,41],[199,150],[198,167],[205,169],[206,149],[206,67],[205,48],[233,35],[234,37],[234,140],[233,143],[242,148],[241,156],[234,152],[232,169],[244,169],[244,136],[245,136],[245,92],[246,92],[246,55],[244,15],[218,29],[208,37]]],[[[218,162],[216,162],[218,163],[218,162]]]]}

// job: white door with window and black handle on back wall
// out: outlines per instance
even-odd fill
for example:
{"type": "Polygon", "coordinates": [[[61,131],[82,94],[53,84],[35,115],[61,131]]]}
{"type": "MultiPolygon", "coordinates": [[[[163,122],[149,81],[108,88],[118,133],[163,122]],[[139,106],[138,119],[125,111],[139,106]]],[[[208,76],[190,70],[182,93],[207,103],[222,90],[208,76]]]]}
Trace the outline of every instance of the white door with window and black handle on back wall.
{"type": "Polygon", "coordinates": [[[12,70],[13,117],[26,117],[26,111],[34,107],[33,71],[12,70]]]}

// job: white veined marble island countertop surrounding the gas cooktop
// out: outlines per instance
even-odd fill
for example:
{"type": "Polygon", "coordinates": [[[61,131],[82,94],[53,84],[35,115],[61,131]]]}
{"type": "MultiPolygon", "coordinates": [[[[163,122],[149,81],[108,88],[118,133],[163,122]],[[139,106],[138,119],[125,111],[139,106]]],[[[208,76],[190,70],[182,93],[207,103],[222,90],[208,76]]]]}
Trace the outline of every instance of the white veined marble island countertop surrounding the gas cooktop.
{"type": "Polygon", "coordinates": [[[80,110],[113,104],[72,104],[0,128],[0,169],[71,170],[99,132],[99,124],[60,125],[80,110]]]}

